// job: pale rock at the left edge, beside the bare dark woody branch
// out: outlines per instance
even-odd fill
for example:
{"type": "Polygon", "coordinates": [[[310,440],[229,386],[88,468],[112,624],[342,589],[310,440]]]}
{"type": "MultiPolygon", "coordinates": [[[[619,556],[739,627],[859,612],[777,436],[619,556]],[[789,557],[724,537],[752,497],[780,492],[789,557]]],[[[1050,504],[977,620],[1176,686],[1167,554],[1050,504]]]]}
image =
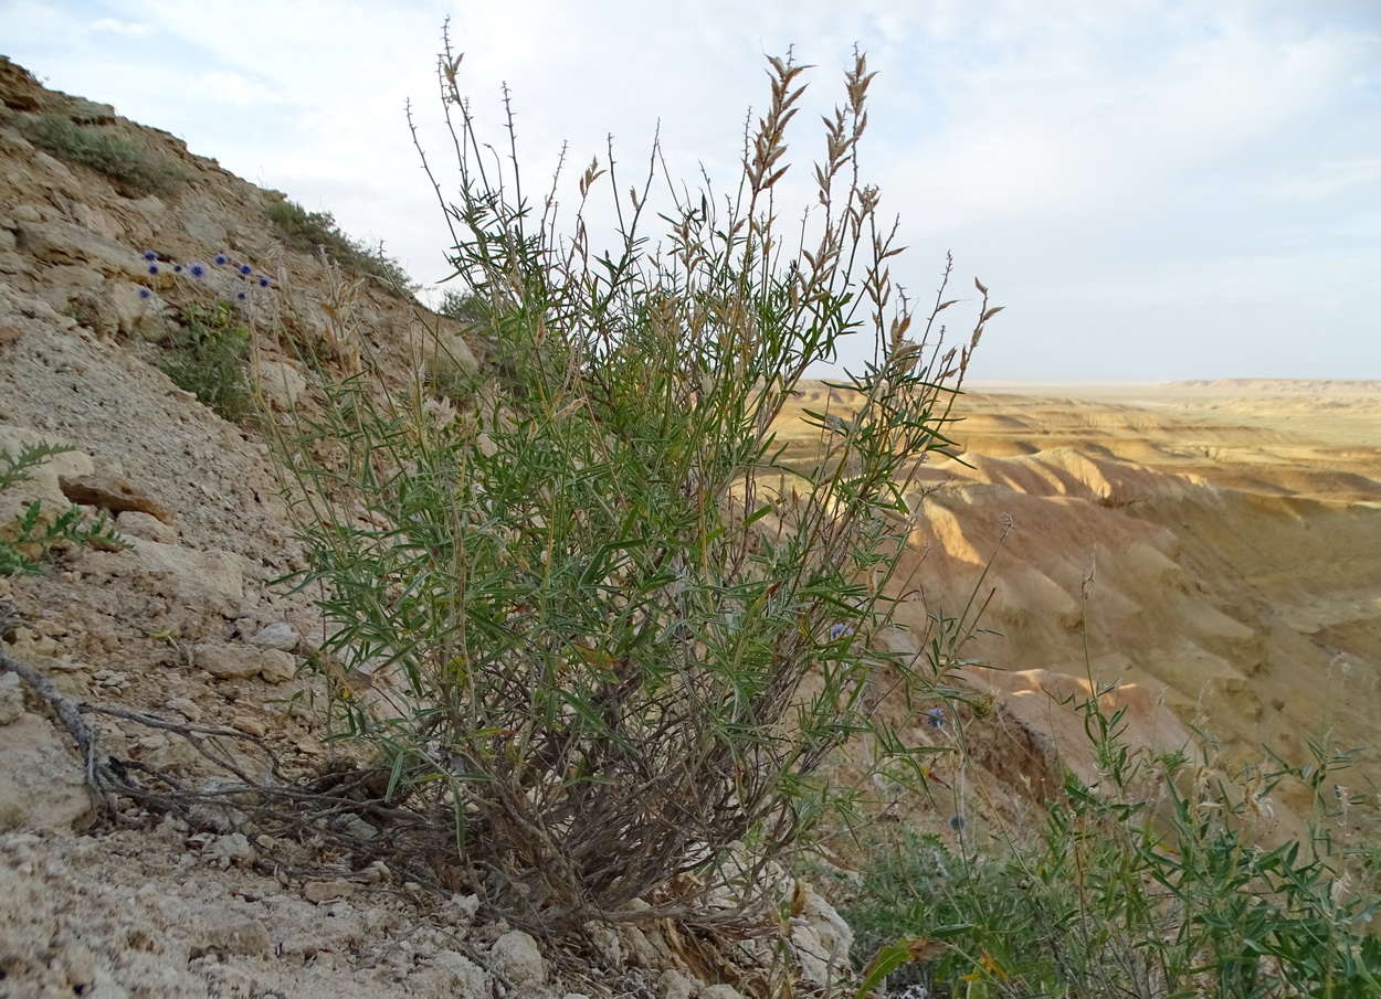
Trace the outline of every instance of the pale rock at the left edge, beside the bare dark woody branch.
{"type": "Polygon", "coordinates": [[[91,818],[81,767],[50,722],[21,715],[4,727],[0,752],[0,822],[28,829],[70,829],[91,818]]]}

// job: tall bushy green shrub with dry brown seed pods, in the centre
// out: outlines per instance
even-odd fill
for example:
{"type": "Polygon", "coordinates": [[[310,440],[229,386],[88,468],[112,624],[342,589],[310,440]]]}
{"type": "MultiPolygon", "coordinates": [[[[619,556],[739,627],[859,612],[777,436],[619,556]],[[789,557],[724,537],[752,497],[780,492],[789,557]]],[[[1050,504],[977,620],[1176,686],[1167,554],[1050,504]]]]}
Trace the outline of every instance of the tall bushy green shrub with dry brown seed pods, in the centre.
{"type": "Polygon", "coordinates": [[[736,195],[675,199],[656,246],[657,170],[620,192],[591,164],[562,235],[516,155],[487,152],[458,65],[447,44],[460,195],[438,196],[496,378],[458,414],[421,381],[323,385],[325,417],[290,443],[336,711],[383,752],[396,806],[454,824],[450,849],[510,919],[740,919],[773,902],[768,862],[841,803],[822,770],[841,746],[867,734],[876,766],[924,773],[874,709],[888,690],[943,693],[968,632],[938,621],[920,655],[873,639],[902,589],[916,469],[949,444],[997,309],[979,284],[949,349],[943,293],[913,324],[895,226],[859,181],[862,57],[795,244],[773,197],[802,66],[771,59],[736,195]],[[603,178],[619,237],[597,253],[603,178]],[[773,421],[855,334],[874,360],[837,386],[844,410],[809,414],[819,459],[793,471],[773,421]]]}

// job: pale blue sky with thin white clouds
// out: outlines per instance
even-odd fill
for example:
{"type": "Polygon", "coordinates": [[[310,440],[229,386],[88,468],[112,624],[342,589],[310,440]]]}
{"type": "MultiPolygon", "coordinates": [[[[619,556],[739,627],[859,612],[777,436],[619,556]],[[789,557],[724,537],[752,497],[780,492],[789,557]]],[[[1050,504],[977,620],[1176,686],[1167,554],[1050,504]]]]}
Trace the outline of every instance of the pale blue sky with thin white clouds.
{"type": "Polygon", "coordinates": [[[1381,378],[1377,0],[0,0],[0,52],[429,284],[446,228],[405,108],[443,163],[447,18],[496,141],[511,91],[530,184],[610,135],[632,171],[660,127],[677,177],[725,189],[789,48],[815,66],[804,177],[856,44],[894,277],[928,299],[949,251],[1005,306],[972,378],[1381,378]]]}

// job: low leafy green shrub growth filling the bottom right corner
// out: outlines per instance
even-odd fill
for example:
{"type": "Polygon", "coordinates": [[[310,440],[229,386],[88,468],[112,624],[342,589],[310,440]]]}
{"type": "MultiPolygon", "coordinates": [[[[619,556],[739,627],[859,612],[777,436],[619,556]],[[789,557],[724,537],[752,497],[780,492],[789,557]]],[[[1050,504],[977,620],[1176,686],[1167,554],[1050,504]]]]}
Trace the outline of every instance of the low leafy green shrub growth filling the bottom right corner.
{"type": "Polygon", "coordinates": [[[1381,853],[1344,847],[1323,810],[1304,842],[1261,839],[1277,781],[1304,781],[1322,807],[1346,755],[1316,744],[1306,767],[1228,781],[1211,748],[1196,762],[1134,751],[1121,713],[1097,697],[1077,706],[1098,785],[1068,777],[1036,840],[968,838],[954,853],[903,832],[845,909],[856,956],[924,953],[935,995],[1381,995],[1367,929],[1381,853]]]}

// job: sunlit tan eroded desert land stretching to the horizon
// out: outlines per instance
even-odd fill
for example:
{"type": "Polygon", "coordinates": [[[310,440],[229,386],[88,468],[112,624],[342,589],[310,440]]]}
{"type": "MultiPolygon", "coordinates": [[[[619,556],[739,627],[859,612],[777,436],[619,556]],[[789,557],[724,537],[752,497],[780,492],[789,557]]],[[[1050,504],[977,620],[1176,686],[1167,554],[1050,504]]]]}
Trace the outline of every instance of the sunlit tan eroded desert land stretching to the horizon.
{"type": "MultiPolygon", "coordinates": [[[[807,388],[779,422],[801,446],[807,408],[842,414],[848,393],[807,388]]],[[[1237,762],[1356,749],[1335,795],[1371,838],[1381,382],[974,382],[954,415],[963,461],[920,471],[903,618],[963,606],[996,552],[968,682],[1054,730],[1076,771],[1080,726],[1047,691],[1091,675],[1128,684],[1137,740],[1174,746],[1178,720],[1237,762]]]]}

